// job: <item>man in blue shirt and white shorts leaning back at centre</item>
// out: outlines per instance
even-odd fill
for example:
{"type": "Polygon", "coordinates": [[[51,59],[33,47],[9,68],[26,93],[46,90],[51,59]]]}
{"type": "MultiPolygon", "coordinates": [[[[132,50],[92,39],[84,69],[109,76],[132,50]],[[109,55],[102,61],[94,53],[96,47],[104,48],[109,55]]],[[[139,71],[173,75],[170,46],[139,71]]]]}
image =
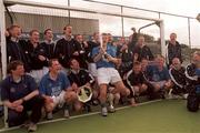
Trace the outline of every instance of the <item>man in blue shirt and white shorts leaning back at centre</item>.
{"type": "Polygon", "coordinates": [[[93,61],[98,69],[98,83],[100,86],[99,100],[101,103],[101,114],[102,116],[108,115],[108,110],[106,105],[107,91],[109,83],[114,85],[116,93],[120,92],[121,95],[127,96],[130,91],[124,86],[119,72],[116,70],[116,64],[120,62],[116,58],[117,49],[116,47],[108,44],[108,37],[106,33],[102,34],[102,47],[97,47],[92,50],[93,61]]]}

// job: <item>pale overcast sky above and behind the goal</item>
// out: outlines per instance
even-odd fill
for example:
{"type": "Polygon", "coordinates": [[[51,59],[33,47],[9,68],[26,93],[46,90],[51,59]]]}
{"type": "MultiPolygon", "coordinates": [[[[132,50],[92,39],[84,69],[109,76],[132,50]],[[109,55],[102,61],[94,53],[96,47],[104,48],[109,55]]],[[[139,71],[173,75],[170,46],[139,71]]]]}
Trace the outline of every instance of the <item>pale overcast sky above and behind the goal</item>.
{"type": "MultiPolygon", "coordinates": [[[[28,0],[28,1],[47,2],[47,3],[61,4],[61,6],[68,4],[68,0],[28,0]]],[[[196,18],[197,14],[200,13],[200,0],[96,0],[96,1],[118,3],[118,4],[134,7],[134,8],[169,12],[169,13],[188,16],[188,17],[193,17],[193,18],[196,18]]],[[[107,11],[107,12],[120,13],[119,7],[89,3],[83,0],[71,0],[70,4],[72,7],[78,7],[78,8],[87,8],[91,10],[101,10],[101,11],[107,11]]],[[[36,11],[36,9],[33,11],[36,11]]],[[[40,13],[41,12],[49,12],[49,11],[40,11],[40,13]]],[[[123,9],[123,13],[130,14],[130,16],[158,18],[157,13],[142,12],[142,11],[132,10],[132,9],[123,9]]],[[[71,16],[99,19],[100,30],[102,32],[111,32],[114,35],[121,35],[121,32],[122,32],[121,19],[118,17],[93,16],[93,14],[86,14],[86,13],[78,13],[78,12],[72,12],[71,16]]],[[[164,20],[166,39],[169,39],[169,34],[171,32],[176,32],[178,34],[179,42],[186,43],[186,44],[189,43],[188,19],[170,17],[166,14],[161,14],[161,19],[164,20]]],[[[191,27],[191,30],[190,30],[191,44],[192,47],[200,48],[200,38],[199,38],[200,37],[200,22],[198,22],[196,19],[190,20],[190,22],[191,22],[191,25],[190,25],[191,27]]],[[[151,23],[151,21],[124,19],[124,34],[129,35],[131,33],[131,30],[130,30],[131,27],[136,27],[138,29],[147,23],[151,23]]],[[[149,33],[156,38],[159,38],[159,29],[157,25],[147,28],[142,32],[149,33]]]]}

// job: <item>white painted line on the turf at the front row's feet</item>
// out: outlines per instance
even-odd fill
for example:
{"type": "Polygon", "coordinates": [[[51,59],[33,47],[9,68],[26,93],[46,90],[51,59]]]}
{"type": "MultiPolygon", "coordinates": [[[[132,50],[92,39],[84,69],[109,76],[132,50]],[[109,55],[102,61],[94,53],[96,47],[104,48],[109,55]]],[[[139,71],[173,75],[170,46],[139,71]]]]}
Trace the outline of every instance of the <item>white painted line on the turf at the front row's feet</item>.
{"type": "MultiPolygon", "coordinates": [[[[160,101],[162,101],[162,100],[148,101],[148,102],[139,103],[138,106],[144,105],[144,104],[149,104],[149,103],[160,102],[160,101]]],[[[132,108],[132,106],[127,105],[127,106],[118,108],[118,109],[116,109],[116,110],[119,111],[119,110],[129,109],[129,108],[132,108]]],[[[137,108],[137,106],[136,106],[136,108],[137,108]]],[[[87,114],[80,114],[80,115],[70,116],[69,119],[56,119],[56,120],[50,120],[50,121],[43,121],[43,122],[39,122],[38,125],[40,125],[40,124],[48,124],[48,123],[54,123],[54,122],[60,122],[60,121],[68,121],[68,120],[79,119],[79,117],[83,117],[83,116],[90,116],[90,115],[94,115],[94,114],[99,114],[99,113],[100,113],[100,112],[92,112],[92,113],[87,113],[87,114]]],[[[21,127],[21,126],[2,129],[2,130],[0,130],[0,133],[6,132],[6,131],[13,131],[13,130],[17,130],[17,129],[20,129],[20,127],[21,127]]]]}

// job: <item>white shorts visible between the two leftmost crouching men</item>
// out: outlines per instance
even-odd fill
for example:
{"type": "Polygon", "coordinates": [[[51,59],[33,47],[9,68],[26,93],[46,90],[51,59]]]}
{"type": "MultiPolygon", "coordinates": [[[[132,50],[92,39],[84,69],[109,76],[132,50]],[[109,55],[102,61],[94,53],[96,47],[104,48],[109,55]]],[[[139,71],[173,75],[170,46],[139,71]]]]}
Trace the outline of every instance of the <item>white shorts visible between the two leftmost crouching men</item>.
{"type": "Polygon", "coordinates": [[[43,66],[41,70],[32,70],[29,74],[36,80],[37,84],[40,83],[42,76],[49,72],[47,66],[43,66]]]}

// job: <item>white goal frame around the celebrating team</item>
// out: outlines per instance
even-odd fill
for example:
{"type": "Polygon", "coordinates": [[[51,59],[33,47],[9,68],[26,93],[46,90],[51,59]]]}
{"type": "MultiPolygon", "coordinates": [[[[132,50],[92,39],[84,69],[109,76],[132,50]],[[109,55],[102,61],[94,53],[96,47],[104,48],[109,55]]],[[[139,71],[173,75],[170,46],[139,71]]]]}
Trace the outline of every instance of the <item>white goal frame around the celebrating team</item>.
{"type": "MultiPolygon", "coordinates": [[[[47,8],[47,9],[57,9],[57,10],[66,10],[66,11],[77,11],[77,12],[86,12],[86,13],[94,13],[98,16],[112,16],[112,17],[119,17],[119,18],[129,18],[129,19],[139,19],[139,20],[148,20],[152,22],[159,23],[160,28],[160,44],[161,44],[161,54],[166,57],[166,41],[164,41],[164,23],[161,19],[156,18],[147,18],[142,16],[131,16],[126,13],[116,13],[116,12],[106,12],[103,10],[91,10],[86,8],[76,8],[76,7],[68,7],[68,6],[58,6],[58,4],[51,4],[51,3],[42,3],[42,2],[34,2],[34,1],[26,1],[26,0],[0,0],[0,28],[1,28],[1,63],[2,63],[2,75],[6,78],[7,75],[7,45],[6,45],[6,10],[4,4],[9,6],[28,6],[28,7],[34,7],[34,8],[47,8]]],[[[4,110],[4,124],[6,127],[8,127],[8,124],[6,122],[8,117],[8,111],[4,110]]]]}

